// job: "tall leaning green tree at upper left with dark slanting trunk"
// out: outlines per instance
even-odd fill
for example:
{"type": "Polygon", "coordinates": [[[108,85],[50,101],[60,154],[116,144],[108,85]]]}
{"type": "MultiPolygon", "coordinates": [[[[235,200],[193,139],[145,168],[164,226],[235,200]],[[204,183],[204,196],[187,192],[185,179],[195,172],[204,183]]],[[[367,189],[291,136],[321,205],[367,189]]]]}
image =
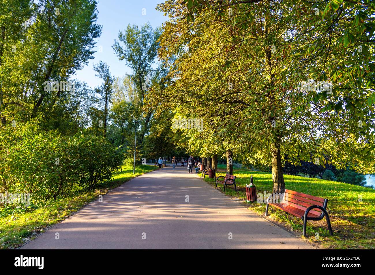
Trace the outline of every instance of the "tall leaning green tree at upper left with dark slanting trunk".
{"type": "Polygon", "coordinates": [[[93,58],[94,40],[101,34],[101,26],[96,24],[96,4],[96,0],[39,1],[39,10],[30,30],[32,41],[27,47],[27,51],[42,51],[37,60],[36,103],[31,116],[36,115],[46,97],[52,98],[53,105],[61,95],[60,90],[56,93],[45,91],[46,81],[66,80],[74,70],[93,58]]]}

